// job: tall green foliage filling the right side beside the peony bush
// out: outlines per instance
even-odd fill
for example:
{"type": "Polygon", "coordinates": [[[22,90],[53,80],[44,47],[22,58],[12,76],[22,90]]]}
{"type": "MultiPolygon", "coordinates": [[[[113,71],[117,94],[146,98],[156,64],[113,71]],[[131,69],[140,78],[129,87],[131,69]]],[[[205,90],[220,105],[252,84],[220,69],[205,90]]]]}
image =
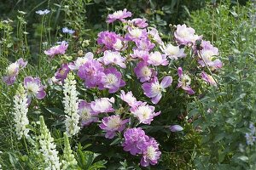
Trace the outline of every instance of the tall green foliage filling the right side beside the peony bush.
{"type": "Polygon", "coordinates": [[[198,169],[255,169],[255,144],[247,145],[245,138],[249,123],[256,122],[254,13],[250,5],[229,9],[222,4],[192,14],[191,25],[215,40],[225,61],[220,87],[208,89],[189,105],[194,126],[201,127],[198,169]]]}

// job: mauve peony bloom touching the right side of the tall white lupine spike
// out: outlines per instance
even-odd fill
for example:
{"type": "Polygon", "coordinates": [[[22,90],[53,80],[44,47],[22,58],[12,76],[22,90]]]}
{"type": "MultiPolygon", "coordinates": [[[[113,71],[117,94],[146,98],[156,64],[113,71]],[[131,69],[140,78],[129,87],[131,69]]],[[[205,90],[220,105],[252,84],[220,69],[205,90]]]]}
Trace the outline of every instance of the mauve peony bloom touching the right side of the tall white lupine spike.
{"type": "Polygon", "coordinates": [[[99,120],[97,116],[93,115],[90,103],[87,103],[84,100],[79,101],[78,113],[80,116],[82,127],[88,126],[91,122],[97,122],[99,120]]]}

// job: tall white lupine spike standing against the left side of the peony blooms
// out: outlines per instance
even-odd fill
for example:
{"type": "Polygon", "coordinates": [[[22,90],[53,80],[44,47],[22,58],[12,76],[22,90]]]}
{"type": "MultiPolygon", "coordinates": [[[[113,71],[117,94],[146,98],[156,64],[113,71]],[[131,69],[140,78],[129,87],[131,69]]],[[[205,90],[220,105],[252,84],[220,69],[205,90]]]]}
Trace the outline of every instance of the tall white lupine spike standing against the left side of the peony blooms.
{"type": "Polygon", "coordinates": [[[76,80],[71,73],[64,80],[63,86],[63,105],[66,115],[65,125],[67,136],[73,136],[79,133],[79,98],[76,90],[76,80]]]}

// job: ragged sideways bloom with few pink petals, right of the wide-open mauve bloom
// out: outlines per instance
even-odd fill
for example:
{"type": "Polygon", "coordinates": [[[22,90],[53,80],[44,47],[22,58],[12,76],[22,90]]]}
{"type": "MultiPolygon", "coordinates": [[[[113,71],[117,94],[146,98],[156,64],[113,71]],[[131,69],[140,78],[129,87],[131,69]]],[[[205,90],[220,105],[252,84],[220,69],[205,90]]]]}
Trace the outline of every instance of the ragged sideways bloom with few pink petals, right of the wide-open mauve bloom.
{"type": "Polygon", "coordinates": [[[177,68],[178,83],[177,88],[183,88],[187,94],[195,94],[195,92],[190,88],[191,78],[187,74],[183,74],[183,69],[181,67],[177,68]]]}

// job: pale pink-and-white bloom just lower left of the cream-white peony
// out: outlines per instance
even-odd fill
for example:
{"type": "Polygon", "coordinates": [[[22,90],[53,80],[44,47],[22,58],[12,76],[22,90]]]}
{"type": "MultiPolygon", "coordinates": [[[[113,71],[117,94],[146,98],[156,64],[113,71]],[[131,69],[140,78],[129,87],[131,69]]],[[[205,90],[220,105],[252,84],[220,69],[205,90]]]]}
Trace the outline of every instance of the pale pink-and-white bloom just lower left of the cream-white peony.
{"type": "Polygon", "coordinates": [[[166,55],[160,54],[159,51],[151,52],[148,55],[148,64],[149,65],[168,65],[168,60],[166,55]]]}

